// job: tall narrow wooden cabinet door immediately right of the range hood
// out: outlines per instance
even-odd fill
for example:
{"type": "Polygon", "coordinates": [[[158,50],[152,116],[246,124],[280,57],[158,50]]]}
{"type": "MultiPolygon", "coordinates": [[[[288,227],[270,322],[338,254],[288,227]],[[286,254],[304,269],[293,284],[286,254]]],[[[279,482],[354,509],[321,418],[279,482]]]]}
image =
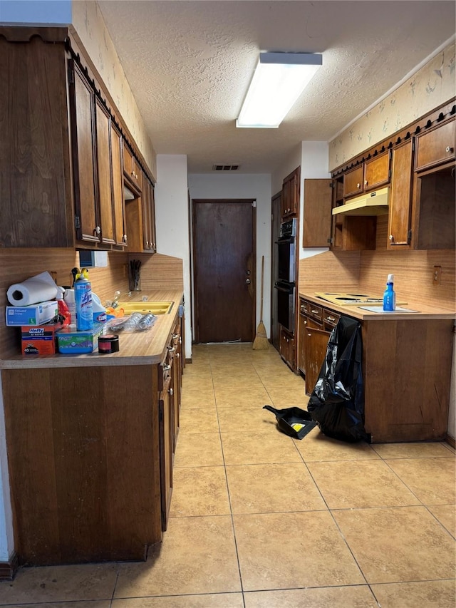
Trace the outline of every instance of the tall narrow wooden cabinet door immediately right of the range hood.
{"type": "Polygon", "coordinates": [[[410,248],[412,223],[412,160],[413,139],[393,150],[390,212],[388,217],[388,249],[410,248]]]}

